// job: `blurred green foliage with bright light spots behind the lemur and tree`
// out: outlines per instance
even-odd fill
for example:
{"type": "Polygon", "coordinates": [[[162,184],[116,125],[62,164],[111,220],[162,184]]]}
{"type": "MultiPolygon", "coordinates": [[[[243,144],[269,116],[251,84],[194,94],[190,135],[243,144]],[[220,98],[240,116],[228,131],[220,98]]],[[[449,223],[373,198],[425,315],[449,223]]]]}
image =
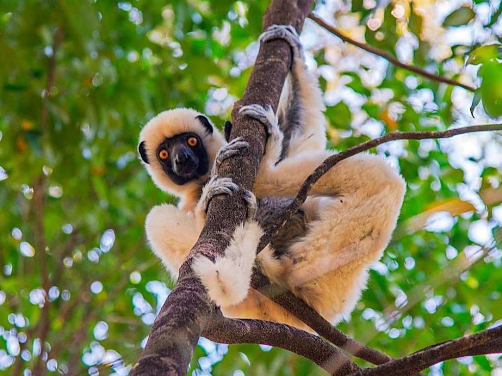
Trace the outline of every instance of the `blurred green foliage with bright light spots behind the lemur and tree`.
{"type": "MultiPolygon", "coordinates": [[[[499,0],[473,3],[317,5],[350,36],[478,88],[426,80],[307,21],[303,38],[325,91],[331,147],[466,125],[470,103],[475,121],[502,115],[502,8],[499,0]]],[[[139,131],[176,106],[205,111],[221,126],[243,92],[267,5],[0,3],[0,373],[29,376],[38,364],[42,374],[128,373],[173,286],[143,225],[153,205],[175,198],[138,162],[139,131]]],[[[501,319],[500,137],[395,142],[378,152],[400,169],[408,192],[393,241],[339,327],[402,356],[501,319]]],[[[490,355],[427,372],[501,371],[490,355]]],[[[209,373],[324,374],[278,348],[201,339],[189,374],[209,373]]]]}

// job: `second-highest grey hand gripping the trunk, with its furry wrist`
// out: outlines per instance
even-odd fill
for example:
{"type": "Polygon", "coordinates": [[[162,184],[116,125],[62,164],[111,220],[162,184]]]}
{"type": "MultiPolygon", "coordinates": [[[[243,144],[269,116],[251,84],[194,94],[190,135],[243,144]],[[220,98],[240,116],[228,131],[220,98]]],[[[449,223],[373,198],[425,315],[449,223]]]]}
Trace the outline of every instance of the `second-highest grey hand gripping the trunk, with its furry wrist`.
{"type": "Polygon", "coordinates": [[[242,106],[239,113],[253,117],[265,126],[268,136],[265,155],[273,163],[276,163],[282,152],[284,135],[279,128],[279,121],[277,120],[272,106],[269,105],[268,109],[265,109],[260,104],[249,104],[247,106],[242,106]]]}

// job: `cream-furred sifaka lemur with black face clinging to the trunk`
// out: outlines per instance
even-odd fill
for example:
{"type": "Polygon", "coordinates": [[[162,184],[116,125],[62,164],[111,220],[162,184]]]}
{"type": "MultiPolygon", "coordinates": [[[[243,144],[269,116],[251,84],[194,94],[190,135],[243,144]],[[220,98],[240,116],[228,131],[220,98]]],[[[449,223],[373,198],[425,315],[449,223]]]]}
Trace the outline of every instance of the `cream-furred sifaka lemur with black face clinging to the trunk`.
{"type": "Polygon", "coordinates": [[[353,310],[369,266],[381,258],[389,243],[406,186],[380,156],[364,153],[347,158],[314,184],[294,218],[255,256],[262,228],[332,154],[326,150],[322,92],[305,65],[298,34],[292,26],[274,25],[260,41],[276,38],[285,39],[293,51],[277,114],[257,104],[240,109],[260,120],[268,132],[254,194],[217,175],[224,159],[248,146],[240,138],[227,142],[231,123],[225,124],[225,141],[208,118],[193,109],[164,111],[143,128],[139,152],[157,186],[181,201],[179,207],[163,204],[150,211],[147,237],[177,278],[201,232],[210,199],[217,194],[241,194],[247,219],[237,226],[225,255],[215,263],[204,257],[192,263],[209,296],[229,317],[305,327],[249,288],[257,265],[274,283],[336,323],[353,310]]]}

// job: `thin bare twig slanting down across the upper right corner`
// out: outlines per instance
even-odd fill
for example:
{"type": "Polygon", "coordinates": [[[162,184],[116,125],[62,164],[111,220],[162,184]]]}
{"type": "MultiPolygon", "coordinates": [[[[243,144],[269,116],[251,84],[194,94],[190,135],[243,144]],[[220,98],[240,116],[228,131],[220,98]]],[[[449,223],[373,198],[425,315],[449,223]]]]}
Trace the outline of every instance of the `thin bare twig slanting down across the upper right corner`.
{"type": "Polygon", "coordinates": [[[363,49],[363,50],[365,50],[367,52],[370,52],[370,53],[372,53],[374,55],[383,57],[384,59],[388,60],[389,62],[391,62],[392,64],[394,64],[394,65],[396,65],[396,66],[398,66],[400,68],[403,68],[403,69],[409,70],[411,72],[417,73],[417,74],[419,74],[419,75],[421,75],[423,77],[429,78],[429,79],[434,80],[434,81],[444,82],[444,83],[447,83],[448,85],[460,86],[460,87],[463,87],[464,89],[469,90],[469,91],[475,91],[476,90],[472,86],[469,86],[469,85],[463,84],[461,82],[455,81],[455,80],[453,80],[451,78],[442,77],[442,76],[439,76],[437,74],[429,73],[426,70],[417,68],[417,67],[415,67],[413,65],[408,65],[408,64],[402,63],[401,61],[399,61],[398,59],[396,59],[394,56],[392,56],[390,53],[388,53],[386,51],[380,50],[380,49],[375,48],[373,46],[370,46],[370,45],[368,45],[366,43],[357,42],[356,40],[343,35],[341,31],[339,31],[335,27],[327,24],[321,18],[317,17],[313,13],[309,14],[309,18],[312,21],[314,21],[317,25],[323,27],[327,31],[329,31],[332,34],[336,35],[342,41],[344,41],[346,43],[350,43],[350,44],[352,44],[352,45],[354,45],[356,47],[359,47],[359,48],[361,48],[361,49],[363,49]]]}

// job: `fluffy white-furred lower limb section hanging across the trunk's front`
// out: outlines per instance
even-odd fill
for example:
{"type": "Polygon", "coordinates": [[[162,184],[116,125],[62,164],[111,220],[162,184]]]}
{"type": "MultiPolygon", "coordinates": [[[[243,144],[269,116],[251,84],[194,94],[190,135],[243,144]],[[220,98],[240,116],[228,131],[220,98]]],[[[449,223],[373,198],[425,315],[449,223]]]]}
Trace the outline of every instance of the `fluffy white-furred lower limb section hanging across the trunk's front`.
{"type": "Polygon", "coordinates": [[[232,306],[246,297],[262,234],[257,222],[244,222],[235,229],[224,256],[218,257],[214,263],[204,256],[193,261],[193,271],[217,305],[232,306]]]}

